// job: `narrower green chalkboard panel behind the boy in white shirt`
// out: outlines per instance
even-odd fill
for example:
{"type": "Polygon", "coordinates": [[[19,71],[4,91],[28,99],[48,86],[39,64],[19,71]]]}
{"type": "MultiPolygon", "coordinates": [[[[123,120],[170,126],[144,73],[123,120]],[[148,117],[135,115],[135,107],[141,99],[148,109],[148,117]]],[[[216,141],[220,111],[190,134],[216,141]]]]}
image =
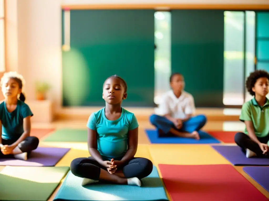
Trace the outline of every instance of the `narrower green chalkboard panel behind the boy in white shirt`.
{"type": "Polygon", "coordinates": [[[172,10],[171,72],[197,107],[223,107],[224,11],[172,10]]]}

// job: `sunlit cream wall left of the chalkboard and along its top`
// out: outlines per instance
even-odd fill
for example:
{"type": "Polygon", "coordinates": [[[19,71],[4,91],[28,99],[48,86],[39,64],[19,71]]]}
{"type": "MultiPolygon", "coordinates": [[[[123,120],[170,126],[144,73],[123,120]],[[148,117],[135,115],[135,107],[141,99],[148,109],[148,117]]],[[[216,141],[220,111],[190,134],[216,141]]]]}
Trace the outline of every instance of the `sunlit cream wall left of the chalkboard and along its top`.
{"type": "MultiPolygon", "coordinates": [[[[8,0],[7,70],[17,70],[26,79],[27,99],[35,98],[36,80],[52,85],[48,98],[55,112],[62,111],[61,4],[79,3],[220,3],[222,0],[8,0]]],[[[227,0],[230,4],[269,4],[267,0],[227,0]]]]}

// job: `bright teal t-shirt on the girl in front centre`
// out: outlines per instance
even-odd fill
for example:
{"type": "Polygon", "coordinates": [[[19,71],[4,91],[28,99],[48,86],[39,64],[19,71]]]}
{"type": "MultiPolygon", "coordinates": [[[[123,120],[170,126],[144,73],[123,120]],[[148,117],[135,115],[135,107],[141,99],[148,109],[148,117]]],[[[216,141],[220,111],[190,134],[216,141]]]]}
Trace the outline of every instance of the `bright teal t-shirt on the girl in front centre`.
{"type": "Polygon", "coordinates": [[[97,150],[103,160],[121,160],[128,149],[128,132],[138,127],[133,113],[122,108],[121,116],[110,121],[105,108],[90,115],[87,127],[97,132],[97,150]]]}

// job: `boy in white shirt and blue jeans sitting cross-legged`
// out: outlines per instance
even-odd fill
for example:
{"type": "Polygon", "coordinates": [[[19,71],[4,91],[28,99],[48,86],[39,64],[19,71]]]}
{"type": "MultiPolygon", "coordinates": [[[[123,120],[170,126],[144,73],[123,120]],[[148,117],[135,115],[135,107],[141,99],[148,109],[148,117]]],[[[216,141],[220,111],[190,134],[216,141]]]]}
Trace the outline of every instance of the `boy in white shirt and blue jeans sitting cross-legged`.
{"type": "Polygon", "coordinates": [[[194,99],[191,94],[184,91],[184,85],[183,76],[180,73],[173,73],[170,76],[172,90],[163,95],[158,115],[150,116],[150,122],[157,128],[159,137],[172,134],[172,136],[200,139],[198,131],[206,124],[206,117],[193,116],[194,99]]]}

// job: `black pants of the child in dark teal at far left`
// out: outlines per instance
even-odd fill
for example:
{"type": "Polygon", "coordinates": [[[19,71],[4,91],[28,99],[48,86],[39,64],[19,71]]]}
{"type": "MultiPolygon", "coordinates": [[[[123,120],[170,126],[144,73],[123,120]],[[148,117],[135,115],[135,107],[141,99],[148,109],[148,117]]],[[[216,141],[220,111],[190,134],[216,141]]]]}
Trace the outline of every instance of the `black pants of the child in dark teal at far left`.
{"type": "MultiPolygon", "coordinates": [[[[14,142],[16,141],[2,139],[3,145],[10,145],[10,144],[13,144],[14,142]]],[[[39,144],[38,138],[34,136],[30,136],[30,137],[26,137],[21,143],[19,143],[18,147],[20,148],[22,152],[27,152],[29,156],[30,152],[32,150],[35,150],[38,144],[39,144]]],[[[13,157],[12,154],[4,155],[0,150],[0,158],[12,158],[12,157],[13,157]]]]}

